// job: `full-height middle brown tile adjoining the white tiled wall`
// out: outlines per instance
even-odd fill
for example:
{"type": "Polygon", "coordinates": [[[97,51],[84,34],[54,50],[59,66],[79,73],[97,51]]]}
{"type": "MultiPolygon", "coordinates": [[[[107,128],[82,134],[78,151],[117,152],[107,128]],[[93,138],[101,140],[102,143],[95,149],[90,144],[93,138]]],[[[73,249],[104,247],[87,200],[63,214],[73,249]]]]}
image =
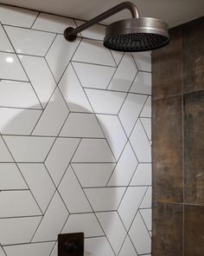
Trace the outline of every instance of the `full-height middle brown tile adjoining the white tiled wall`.
{"type": "Polygon", "coordinates": [[[153,102],[153,201],[182,202],[182,96],[153,102]]]}

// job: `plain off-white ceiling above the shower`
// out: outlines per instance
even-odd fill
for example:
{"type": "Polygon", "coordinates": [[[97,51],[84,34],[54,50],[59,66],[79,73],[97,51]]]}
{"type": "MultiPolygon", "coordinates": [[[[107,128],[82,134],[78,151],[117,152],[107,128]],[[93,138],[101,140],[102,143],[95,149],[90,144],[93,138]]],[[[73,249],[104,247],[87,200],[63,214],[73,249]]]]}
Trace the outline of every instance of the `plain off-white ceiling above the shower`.
{"type": "MultiPolygon", "coordinates": [[[[32,10],[41,10],[61,16],[90,20],[123,0],[1,0],[7,3],[32,10]]],[[[137,4],[140,16],[160,18],[174,27],[204,15],[204,0],[132,0],[137,4]]],[[[130,17],[128,10],[121,11],[106,19],[108,24],[118,19],[130,17]]]]}

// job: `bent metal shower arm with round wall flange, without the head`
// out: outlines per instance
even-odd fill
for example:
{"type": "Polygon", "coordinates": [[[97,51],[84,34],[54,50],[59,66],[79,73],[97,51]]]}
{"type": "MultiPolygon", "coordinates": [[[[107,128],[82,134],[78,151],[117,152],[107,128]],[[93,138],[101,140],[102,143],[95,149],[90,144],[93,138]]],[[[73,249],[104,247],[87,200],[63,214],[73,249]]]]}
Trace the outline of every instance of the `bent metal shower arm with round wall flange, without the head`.
{"type": "Polygon", "coordinates": [[[131,15],[133,18],[139,17],[139,11],[137,9],[137,6],[134,3],[131,3],[131,2],[119,3],[118,5],[112,7],[110,10],[106,10],[99,16],[92,18],[92,20],[90,20],[89,22],[86,22],[86,23],[80,25],[76,29],[73,29],[71,27],[67,28],[64,31],[64,36],[67,41],[72,42],[76,39],[77,34],[80,33],[81,31],[86,30],[86,29],[92,27],[92,25],[99,23],[99,22],[105,20],[106,18],[118,13],[121,10],[125,10],[125,9],[131,11],[131,15]]]}

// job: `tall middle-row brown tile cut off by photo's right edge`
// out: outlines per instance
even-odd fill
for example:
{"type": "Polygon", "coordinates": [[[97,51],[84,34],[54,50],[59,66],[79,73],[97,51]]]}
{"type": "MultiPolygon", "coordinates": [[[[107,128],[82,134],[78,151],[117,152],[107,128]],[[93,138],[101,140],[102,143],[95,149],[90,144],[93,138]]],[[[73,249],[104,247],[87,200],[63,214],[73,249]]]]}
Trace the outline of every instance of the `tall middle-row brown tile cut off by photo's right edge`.
{"type": "Polygon", "coordinates": [[[204,205],[204,90],[184,102],[185,201],[204,205]]]}

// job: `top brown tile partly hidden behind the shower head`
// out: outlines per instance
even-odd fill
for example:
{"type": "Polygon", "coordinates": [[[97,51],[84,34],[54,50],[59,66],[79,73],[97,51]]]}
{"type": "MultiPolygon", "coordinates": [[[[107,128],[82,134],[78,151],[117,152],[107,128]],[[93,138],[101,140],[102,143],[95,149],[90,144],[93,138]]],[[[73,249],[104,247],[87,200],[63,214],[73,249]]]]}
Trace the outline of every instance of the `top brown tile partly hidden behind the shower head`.
{"type": "Polygon", "coordinates": [[[169,32],[171,37],[169,45],[152,51],[153,99],[182,93],[181,27],[169,32]]]}

